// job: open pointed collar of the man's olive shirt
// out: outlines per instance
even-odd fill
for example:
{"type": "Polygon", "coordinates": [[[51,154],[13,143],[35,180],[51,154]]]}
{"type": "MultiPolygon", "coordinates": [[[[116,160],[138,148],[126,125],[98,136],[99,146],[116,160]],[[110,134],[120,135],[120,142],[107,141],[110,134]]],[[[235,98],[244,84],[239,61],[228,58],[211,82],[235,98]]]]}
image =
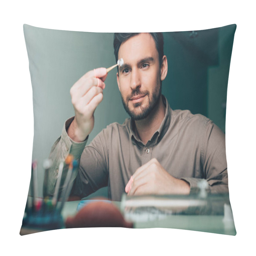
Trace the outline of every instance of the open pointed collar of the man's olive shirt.
{"type": "MultiPolygon", "coordinates": [[[[151,143],[154,143],[154,144],[155,144],[155,142],[158,143],[163,138],[164,134],[168,130],[169,125],[171,123],[170,105],[164,95],[162,95],[162,99],[164,102],[164,106],[166,107],[165,115],[164,115],[164,119],[163,119],[161,125],[159,126],[159,128],[156,130],[156,132],[153,134],[153,136],[150,139],[151,143]]],[[[130,136],[131,140],[132,141],[135,140],[137,142],[142,143],[142,141],[136,136],[136,134],[134,132],[135,124],[134,124],[134,121],[132,120],[132,118],[127,118],[125,123],[126,123],[126,127],[129,132],[129,136],[130,136]]]]}

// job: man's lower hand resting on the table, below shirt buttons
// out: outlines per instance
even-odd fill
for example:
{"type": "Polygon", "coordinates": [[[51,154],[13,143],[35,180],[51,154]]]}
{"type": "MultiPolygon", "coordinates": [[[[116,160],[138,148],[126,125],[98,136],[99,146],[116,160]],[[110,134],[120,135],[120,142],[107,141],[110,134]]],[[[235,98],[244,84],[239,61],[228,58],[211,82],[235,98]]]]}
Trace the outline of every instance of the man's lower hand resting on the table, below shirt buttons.
{"type": "Polygon", "coordinates": [[[148,194],[189,194],[190,186],[164,170],[156,158],[142,165],[132,175],[132,186],[128,196],[148,194]]]}

